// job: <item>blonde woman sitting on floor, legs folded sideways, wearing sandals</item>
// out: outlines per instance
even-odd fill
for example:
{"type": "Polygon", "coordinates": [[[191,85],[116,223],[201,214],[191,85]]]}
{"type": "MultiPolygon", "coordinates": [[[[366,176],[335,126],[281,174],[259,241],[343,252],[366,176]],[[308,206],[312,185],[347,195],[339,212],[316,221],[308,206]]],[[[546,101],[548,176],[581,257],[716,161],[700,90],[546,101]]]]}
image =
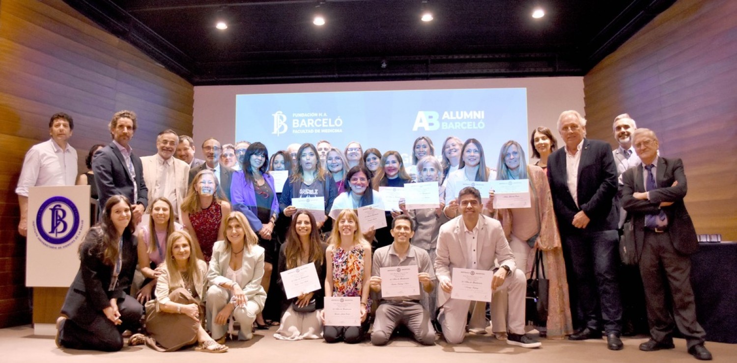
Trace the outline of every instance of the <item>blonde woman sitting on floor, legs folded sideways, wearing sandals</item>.
{"type": "Polygon", "coordinates": [[[128,345],[146,343],[164,352],[199,343],[196,348],[207,353],[224,353],[228,347],[218,344],[202,327],[202,298],[205,296],[207,264],[195,255],[192,237],[184,230],[173,232],[161,275],[156,281],[156,300],[146,303],[146,330],[150,336],[133,334],[128,345]]]}

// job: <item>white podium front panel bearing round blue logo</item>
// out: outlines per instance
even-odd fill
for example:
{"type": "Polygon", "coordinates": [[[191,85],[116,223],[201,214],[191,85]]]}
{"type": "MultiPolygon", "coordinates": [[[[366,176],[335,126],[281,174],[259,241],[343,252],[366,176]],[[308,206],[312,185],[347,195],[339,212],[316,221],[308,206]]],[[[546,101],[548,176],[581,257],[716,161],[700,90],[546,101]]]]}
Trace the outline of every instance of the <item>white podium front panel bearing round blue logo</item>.
{"type": "Polygon", "coordinates": [[[90,186],[29,188],[26,286],[71,285],[89,219],[90,186]]]}

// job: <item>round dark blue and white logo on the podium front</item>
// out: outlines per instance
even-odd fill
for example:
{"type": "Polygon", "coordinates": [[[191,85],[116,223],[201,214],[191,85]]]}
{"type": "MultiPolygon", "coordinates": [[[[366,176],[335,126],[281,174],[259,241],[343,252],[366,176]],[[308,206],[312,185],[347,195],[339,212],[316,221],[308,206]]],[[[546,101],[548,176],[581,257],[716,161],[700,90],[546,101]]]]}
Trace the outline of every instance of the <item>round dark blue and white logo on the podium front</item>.
{"type": "Polygon", "coordinates": [[[46,247],[61,249],[74,244],[83,222],[77,205],[66,197],[51,197],[41,204],[33,223],[38,239],[46,247]]]}

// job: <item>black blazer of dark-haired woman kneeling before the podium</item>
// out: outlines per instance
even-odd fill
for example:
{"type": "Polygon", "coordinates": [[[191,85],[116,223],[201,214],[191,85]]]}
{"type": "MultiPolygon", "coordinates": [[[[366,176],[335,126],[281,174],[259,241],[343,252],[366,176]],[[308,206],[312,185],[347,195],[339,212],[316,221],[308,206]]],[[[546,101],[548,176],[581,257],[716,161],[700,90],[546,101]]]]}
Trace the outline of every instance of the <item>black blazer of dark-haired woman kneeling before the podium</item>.
{"type": "Polygon", "coordinates": [[[90,228],[80,248],[80,270],[66,293],[61,312],[82,327],[89,325],[102,309],[110,306],[113,297],[125,297],[130,291],[133,273],[138,264],[138,240],[133,233],[123,239],[123,260],[118,275],[118,283],[113,291],[108,291],[113,275],[113,267],[102,262],[97,255],[97,245],[102,242],[99,226],[90,228]]]}

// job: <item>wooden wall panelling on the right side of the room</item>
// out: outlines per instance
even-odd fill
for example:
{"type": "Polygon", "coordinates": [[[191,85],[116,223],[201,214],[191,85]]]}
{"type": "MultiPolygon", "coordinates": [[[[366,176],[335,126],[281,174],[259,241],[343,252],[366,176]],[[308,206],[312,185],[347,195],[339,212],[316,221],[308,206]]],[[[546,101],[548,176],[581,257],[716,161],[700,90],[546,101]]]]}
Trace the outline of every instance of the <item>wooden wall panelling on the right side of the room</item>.
{"type": "Polygon", "coordinates": [[[629,113],[682,158],[697,233],[737,240],[737,1],[680,0],[584,77],[591,138],[629,113]]]}

